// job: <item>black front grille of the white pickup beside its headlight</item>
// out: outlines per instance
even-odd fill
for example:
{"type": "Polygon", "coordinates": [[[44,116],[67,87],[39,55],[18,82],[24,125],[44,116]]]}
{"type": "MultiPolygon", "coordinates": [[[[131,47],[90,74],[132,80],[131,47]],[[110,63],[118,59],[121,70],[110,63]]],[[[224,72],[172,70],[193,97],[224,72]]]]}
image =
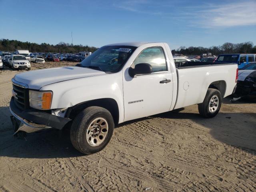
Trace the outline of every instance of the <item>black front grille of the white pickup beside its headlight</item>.
{"type": "Polygon", "coordinates": [[[18,87],[12,84],[13,91],[16,93],[14,97],[14,103],[20,110],[26,110],[29,106],[29,92],[28,89],[18,87]]]}

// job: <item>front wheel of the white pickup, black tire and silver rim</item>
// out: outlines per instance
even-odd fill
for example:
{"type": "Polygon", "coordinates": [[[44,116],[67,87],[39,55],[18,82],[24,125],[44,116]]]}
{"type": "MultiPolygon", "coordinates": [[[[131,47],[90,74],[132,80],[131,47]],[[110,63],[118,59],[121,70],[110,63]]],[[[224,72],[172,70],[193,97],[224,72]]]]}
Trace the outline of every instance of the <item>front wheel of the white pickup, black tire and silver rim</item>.
{"type": "Polygon", "coordinates": [[[70,140],[79,152],[86,155],[93,154],[106,147],[113,131],[114,120],[110,112],[105,108],[92,106],[82,110],[74,119],[70,129],[70,140]],[[99,124],[96,124],[99,120],[99,124]],[[103,126],[100,126],[103,124],[101,121],[105,121],[103,126]],[[98,127],[100,127],[99,133],[96,132],[98,127]]]}

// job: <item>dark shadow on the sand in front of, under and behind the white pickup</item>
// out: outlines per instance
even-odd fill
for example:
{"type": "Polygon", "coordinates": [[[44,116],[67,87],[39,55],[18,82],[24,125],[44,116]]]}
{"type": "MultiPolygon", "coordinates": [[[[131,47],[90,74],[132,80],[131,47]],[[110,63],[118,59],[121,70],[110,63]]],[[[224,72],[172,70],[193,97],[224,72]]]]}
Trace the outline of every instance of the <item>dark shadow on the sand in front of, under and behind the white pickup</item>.
{"type": "MultiPolygon", "coordinates": [[[[177,120],[177,126],[202,129],[202,134],[209,132],[212,138],[228,145],[235,146],[246,152],[256,154],[256,114],[255,113],[223,113],[206,119],[198,113],[174,110],[138,120],[120,124],[140,122],[151,118],[166,118],[177,120]],[[195,123],[191,123],[191,120],[195,123]],[[187,126],[186,126],[187,125],[187,126]]],[[[27,134],[23,138],[14,138],[10,112],[8,107],[0,107],[0,156],[15,158],[67,158],[84,156],[71,144],[69,129],[63,131],[48,130],[27,134]]],[[[161,120],[159,120],[161,121],[161,120]]],[[[170,126],[170,131],[172,127],[170,126]]],[[[150,139],[150,138],[149,138],[150,139]]]]}

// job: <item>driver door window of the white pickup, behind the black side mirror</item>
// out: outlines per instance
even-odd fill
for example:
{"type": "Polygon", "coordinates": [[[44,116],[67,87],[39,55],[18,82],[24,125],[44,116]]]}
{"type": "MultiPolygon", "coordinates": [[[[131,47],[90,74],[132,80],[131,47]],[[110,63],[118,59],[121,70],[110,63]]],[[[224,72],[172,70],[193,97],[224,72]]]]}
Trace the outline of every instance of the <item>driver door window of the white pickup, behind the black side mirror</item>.
{"type": "Polygon", "coordinates": [[[148,63],[152,72],[167,71],[166,59],[162,47],[150,47],[143,50],[134,60],[134,66],[139,63],[148,63]]]}

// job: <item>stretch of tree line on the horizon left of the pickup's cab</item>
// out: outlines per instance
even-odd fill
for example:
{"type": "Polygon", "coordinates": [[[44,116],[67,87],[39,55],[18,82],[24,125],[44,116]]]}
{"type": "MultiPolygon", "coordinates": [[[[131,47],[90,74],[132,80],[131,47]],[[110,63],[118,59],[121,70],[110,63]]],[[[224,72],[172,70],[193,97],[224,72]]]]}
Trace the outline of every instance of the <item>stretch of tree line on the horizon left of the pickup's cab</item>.
{"type": "Polygon", "coordinates": [[[78,53],[80,51],[94,52],[98,48],[93,46],[72,45],[60,42],[56,45],[47,43],[30,43],[18,40],[0,39],[0,51],[13,52],[15,50],[29,50],[29,52],[52,52],[52,53],[78,53]]]}

